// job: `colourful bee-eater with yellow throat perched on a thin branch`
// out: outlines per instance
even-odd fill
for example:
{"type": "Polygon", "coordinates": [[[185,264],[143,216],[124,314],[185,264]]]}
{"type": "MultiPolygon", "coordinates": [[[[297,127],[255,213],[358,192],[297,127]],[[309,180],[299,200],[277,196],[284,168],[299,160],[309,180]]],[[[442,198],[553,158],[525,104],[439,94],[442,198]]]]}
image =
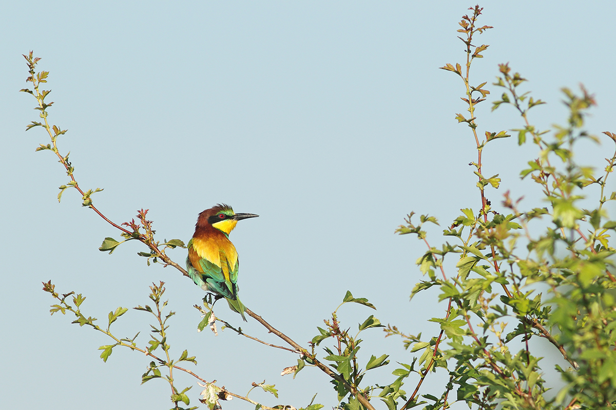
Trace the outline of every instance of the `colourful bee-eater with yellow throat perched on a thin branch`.
{"type": "Polygon", "coordinates": [[[255,218],[254,213],[235,213],[224,203],[206,209],[199,214],[195,234],[188,241],[186,269],[192,280],[201,289],[216,294],[216,299],[225,298],[231,310],[244,317],[245,307],[237,294],[237,274],[240,262],[235,246],[229,240],[237,221],[255,218]]]}

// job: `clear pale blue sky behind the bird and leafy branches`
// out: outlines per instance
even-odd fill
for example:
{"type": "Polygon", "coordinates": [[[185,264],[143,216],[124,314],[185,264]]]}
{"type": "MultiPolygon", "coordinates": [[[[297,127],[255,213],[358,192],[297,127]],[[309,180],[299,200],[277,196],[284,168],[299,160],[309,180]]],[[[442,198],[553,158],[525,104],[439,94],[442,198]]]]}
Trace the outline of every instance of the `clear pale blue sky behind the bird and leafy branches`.
{"type": "MultiPolygon", "coordinates": [[[[426,320],[442,315],[437,292],[408,301],[421,279],[415,261],[424,251],[414,237],[394,229],[410,211],[436,216],[429,229],[434,246],[460,208],[480,205],[476,160],[469,128],[454,119],[464,112],[463,83],[438,69],[463,63],[458,22],[474,3],[440,2],[212,2],[31,1],[4,2],[0,13],[0,250],[4,314],[0,346],[0,407],[46,409],[130,409],[171,407],[162,380],[140,386],[150,361],[128,349],[114,350],[103,363],[103,334],[71,325],[72,317],[49,316],[52,299],[41,282],[60,293],[87,297],[86,316],[107,323],[118,306],[148,303],[148,285],[166,282],[169,343],[179,356],[188,349],[206,380],[216,379],[244,395],[251,382],[280,388],[276,400],[254,390],[267,406],[336,404],[328,378],[313,368],[295,380],[280,371],[296,355],[256,344],[224,331],[197,333],[200,316],[192,306],[203,291],[176,270],[147,267],[136,256],[144,246],[124,244],[111,256],[100,252],[103,238],[117,231],[74,191],[58,203],[57,187],[68,182],[51,152],[34,152],[48,137],[41,128],[25,133],[38,116],[22,54],[34,50],[50,71],[50,121],[68,133],[60,151],[71,152],[75,176],[84,189],[103,187],[95,205],[116,223],[140,208],[150,209],[158,238],[190,239],[197,215],[217,202],[236,212],[261,215],[241,221],[231,239],[241,258],[241,300],[246,306],[306,345],[316,326],[338,306],[347,290],[365,297],[339,310],[344,326],[375,314],[383,323],[424,339],[438,333],[426,320]]],[[[525,90],[548,104],[531,111],[540,129],[564,124],[561,87],[578,84],[596,94],[598,107],[587,122],[591,133],[616,132],[613,22],[616,3],[521,1],[516,7],[485,1],[481,25],[495,28],[476,39],[490,44],[473,65],[471,82],[488,82],[492,95],[479,106],[479,132],[521,127],[512,108],[490,113],[501,94],[490,85],[498,63],[509,62],[529,79],[525,90]]],[[[582,145],[580,161],[603,167],[612,153],[582,145]]],[[[498,191],[487,191],[498,210],[502,194],[525,195],[523,207],[543,206],[519,170],[535,149],[517,138],[484,150],[484,175],[499,173],[498,191]]],[[[613,186],[612,186],[613,189],[613,186]]],[[[608,211],[614,215],[614,207],[608,211]]],[[[451,241],[450,241],[451,242],[451,241]]],[[[169,251],[184,264],[185,250],[169,251]]],[[[453,270],[449,275],[455,275],[453,270]]],[[[246,333],[279,343],[250,319],[216,306],[219,316],[246,333]]],[[[148,340],[144,312],[129,310],[112,327],[120,337],[148,340]]],[[[366,382],[391,382],[395,361],[410,363],[400,339],[363,333],[360,357],[389,353],[392,363],[366,382]],[[389,375],[389,376],[388,376],[389,375]],[[389,381],[388,381],[389,380],[389,381]]],[[[546,353],[547,363],[557,361],[546,353]]],[[[545,366],[551,372],[551,365],[545,366]]],[[[444,372],[429,376],[442,385],[444,372]]],[[[405,387],[412,390],[415,379],[405,387]]],[[[194,379],[176,375],[180,388],[198,403],[194,379]]],[[[555,384],[556,385],[556,384],[555,384]]],[[[439,390],[437,390],[439,392],[439,390]]],[[[377,409],[383,403],[373,400],[377,409]]],[[[240,400],[224,409],[252,409],[240,400]]]]}

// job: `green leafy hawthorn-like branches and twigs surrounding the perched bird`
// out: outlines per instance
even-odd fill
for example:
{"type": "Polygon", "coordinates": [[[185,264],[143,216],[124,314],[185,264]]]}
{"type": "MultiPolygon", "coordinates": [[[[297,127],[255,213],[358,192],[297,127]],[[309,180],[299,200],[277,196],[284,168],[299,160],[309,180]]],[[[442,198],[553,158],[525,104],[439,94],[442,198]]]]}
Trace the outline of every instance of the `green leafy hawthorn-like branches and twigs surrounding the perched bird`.
{"type": "MultiPolygon", "coordinates": [[[[460,39],[465,45],[464,63],[447,63],[444,71],[459,77],[464,85],[461,99],[468,106],[468,113],[455,114],[455,120],[469,127],[469,139],[477,149],[476,162],[471,162],[477,177],[477,204],[475,209],[460,209],[451,224],[445,226],[443,235],[447,237],[440,246],[432,246],[424,224],[439,225],[434,216],[420,215],[416,222],[411,212],[404,223],[396,230],[400,235],[413,234],[423,241],[426,252],[417,259],[419,272],[424,280],[410,290],[410,298],[419,292],[437,291],[437,302],[445,301],[447,308],[439,317],[430,321],[439,325],[439,333],[423,337],[404,333],[395,325],[383,325],[374,315],[369,315],[358,323],[357,333],[351,327],[342,325],[338,309],[345,304],[360,304],[376,310],[368,299],[355,298],[350,291],[344,295],[342,303],[324,320],[323,328],[317,326],[317,334],[307,347],[299,345],[278,329],[273,328],[256,313],[246,313],[259,321],[268,332],[280,337],[283,347],[245,334],[227,321],[217,318],[211,298],[204,300],[204,314],[198,324],[199,331],[209,326],[216,334],[216,321],[224,328],[235,331],[252,341],[283,349],[298,355],[297,365],[285,368],[282,372],[293,374],[295,378],[302,369],[317,368],[330,377],[338,396],[336,408],[344,410],[373,410],[371,400],[383,401],[389,410],[405,410],[422,406],[424,409],[449,408],[456,401],[478,409],[595,409],[613,408],[616,404],[616,278],[614,277],[615,248],[610,245],[610,231],[616,230],[616,221],[609,219],[604,204],[616,199],[616,192],[607,191],[607,179],[616,163],[616,133],[604,132],[609,143],[614,143],[614,154],[606,158],[606,166],[597,171],[575,162],[575,145],[581,140],[599,142],[599,138],[588,133],[583,127],[588,110],[595,104],[594,97],[583,87],[580,93],[562,89],[564,103],[569,116],[564,125],[555,125],[553,130],[539,130],[532,125],[530,110],[541,104],[540,99],[530,97],[529,92],[521,92],[520,87],[526,79],[519,73],[512,73],[508,64],[499,66],[498,77],[492,84],[500,97],[492,101],[492,110],[511,106],[521,116],[521,125],[505,130],[486,130],[480,127],[476,112],[477,104],[491,95],[485,88],[487,81],[471,84],[471,65],[476,58],[482,58],[488,45],[477,42],[477,37],[491,26],[479,26],[482,9],[471,7],[471,13],[464,15],[459,23],[460,39]],[[522,208],[522,198],[514,199],[509,191],[498,194],[502,181],[490,171],[484,174],[483,149],[487,143],[517,135],[519,145],[532,141],[537,148],[537,157],[530,159],[528,168],[521,170],[520,176],[530,183],[538,184],[543,202],[522,208]],[[481,137],[481,138],[480,138],[481,137]],[[498,205],[488,200],[499,197],[498,205]],[[544,206],[546,205],[546,206],[544,206]],[[455,258],[455,265],[445,264],[445,256],[455,258]],[[362,332],[373,332],[383,328],[386,337],[400,336],[405,349],[413,355],[410,365],[399,363],[394,366],[392,376],[380,382],[370,382],[369,371],[391,365],[390,355],[384,352],[368,352],[364,355],[362,332]],[[508,330],[506,330],[508,328],[508,330]],[[540,337],[549,342],[554,352],[561,355],[569,364],[566,368],[556,366],[552,373],[541,367],[541,358],[533,352],[529,341],[540,337]],[[360,354],[361,350],[361,354],[360,354]],[[320,355],[323,355],[321,358],[320,355]],[[440,395],[434,386],[422,390],[423,382],[437,371],[447,374],[448,382],[442,387],[440,395]],[[561,377],[565,387],[549,394],[547,377],[561,377]],[[403,385],[411,389],[403,390],[403,385]],[[412,390],[412,392],[411,392],[412,390]],[[420,394],[419,392],[422,391],[420,394]]],[[[69,188],[81,194],[82,205],[89,207],[97,215],[120,231],[121,242],[107,237],[100,251],[110,254],[124,242],[137,240],[147,247],[139,256],[147,258],[147,264],[163,262],[173,266],[183,275],[184,269],[167,256],[165,250],[184,248],[179,239],[155,239],[156,231],[152,221],[147,219],[148,210],[137,213],[137,221],[115,224],[107,219],[92,202],[92,194],[102,189],[83,191],[75,179],[75,167],[69,161],[69,153],[60,154],[57,138],[67,130],[49,125],[48,111],[53,103],[46,103],[49,91],[39,90],[47,82],[49,73],[36,72],[39,58],[33,53],[24,56],[28,63],[27,81],[33,90],[23,89],[36,98],[41,122],[33,121],[26,127],[44,128],[51,143],[39,144],[36,151],[52,151],[58,157],[67,173],[67,184],[60,186],[58,200],[69,188]]],[[[535,111],[533,111],[535,112],[535,111]]],[[[496,144],[494,142],[493,144],[496,144]]],[[[532,189],[532,188],[529,188],[532,189]]],[[[449,259],[448,259],[449,261],[449,259]]],[[[274,384],[254,383],[245,396],[229,392],[207,382],[188,369],[178,366],[181,362],[197,364],[195,357],[189,357],[187,350],[177,360],[169,353],[168,320],[174,312],[166,310],[167,302],[163,283],[150,286],[150,305],[137,306],[136,310],[150,313],[154,317],[150,339],[146,344],[137,344],[140,333],[132,338],[119,338],[111,332],[111,325],[128,309],[117,307],[108,313],[108,325],[101,328],[94,317],[86,317],[81,312],[85,297],[70,292],[59,294],[51,281],[44,283],[44,291],[55,299],[50,312],[62,315],[73,313],[73,323],[89,326],[105,334],[111,344],[99,347],[100,358],[107,361],[113,349],[118,346],[137,350],[150,360],[142,382],[163,379],[171,386],[171,401],[174,409],[190,405],[189,387],[176,388],[174,371],[196,377],[204,388],[200,401],[209,410],[221,408],[221,401],[239,398],[254,404],[258,409],[287,409],[293,406],[278,404],[267,407],[248,398],[253,388],[259,387],[278,398],[274,384]],[[201,383],[202,382],[202,383],[201,383]]],[[[350,307],[349,305],[347,307],[350,307]]],[[[354,306],[357,307],[357,306],[354,306]]],[[[357,307],[363,309],[362,307],[357,307]]],[[[346,309],[346,307],[345,307],[346,309]]],[[[565,363],[565,362],[563,362],[565,363]]],[[[315,397],[301,410],[319,410],[323,404],[313,403],[315,397]]],[[[190,409],[194,409],[192,407],[190,409]]]]}

